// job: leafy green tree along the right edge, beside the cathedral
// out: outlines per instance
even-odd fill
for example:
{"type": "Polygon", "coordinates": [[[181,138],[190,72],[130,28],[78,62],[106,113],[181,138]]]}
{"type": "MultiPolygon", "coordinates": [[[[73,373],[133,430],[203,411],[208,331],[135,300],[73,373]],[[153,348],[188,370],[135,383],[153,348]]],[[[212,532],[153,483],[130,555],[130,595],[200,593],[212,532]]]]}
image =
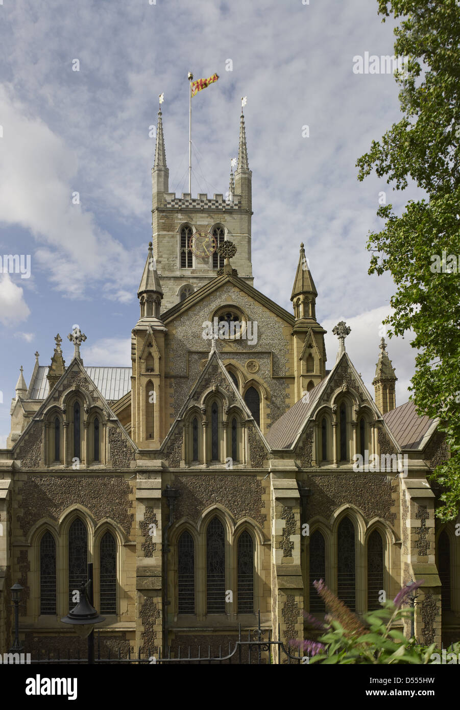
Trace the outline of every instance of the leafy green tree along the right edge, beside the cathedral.
{"type": "Polygon", "coordinates": [[[412,329],[418,350],[412,397],[419,414],[439,416],[451,457],[437,466],[437,515],[460,508],[460,2],[378,0],[378,13],[399,18],[395,54],[409,57],[395,74],[403,119],[358,159],[358,180],[372,170],[393,190],[414,180],[426,199],[403,214],[382,205],[380,232],[369,234],[369,273],[393,275],[390,336],[412,329]]]}

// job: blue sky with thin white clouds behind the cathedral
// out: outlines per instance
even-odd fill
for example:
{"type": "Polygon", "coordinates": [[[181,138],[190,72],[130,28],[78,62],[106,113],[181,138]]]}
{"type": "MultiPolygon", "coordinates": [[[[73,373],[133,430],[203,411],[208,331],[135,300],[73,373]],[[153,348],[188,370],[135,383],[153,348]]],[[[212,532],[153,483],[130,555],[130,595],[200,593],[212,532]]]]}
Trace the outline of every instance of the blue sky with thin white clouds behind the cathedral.
{"type": "MultiPolygon", "coordinates": [[[[292,312],[305,243],[327,329],[327,368],[346,349],[369,391],[395,287],[368,275],[379,193],[395,212],[422,193],[393,192],[356,160],[400,120],[391,74],[356,74],[354,57],[393,54],[377,0],[4,0],[0,4],[0,447],[23,365],[50,364],[54,337],[87,335],[86,366],[131,366],[137,288],[151,236],[158,94],[170,191],[187,192],[187,73],[219,80],[193,99],[192,195],[224,193],[237,155],[241,97],[252,170],[254,286],[292,312]],[[308,129],[305,130],[305,127],[308,129]]],[[[388,341],[407,401],[410,334],[388,341]]]]}

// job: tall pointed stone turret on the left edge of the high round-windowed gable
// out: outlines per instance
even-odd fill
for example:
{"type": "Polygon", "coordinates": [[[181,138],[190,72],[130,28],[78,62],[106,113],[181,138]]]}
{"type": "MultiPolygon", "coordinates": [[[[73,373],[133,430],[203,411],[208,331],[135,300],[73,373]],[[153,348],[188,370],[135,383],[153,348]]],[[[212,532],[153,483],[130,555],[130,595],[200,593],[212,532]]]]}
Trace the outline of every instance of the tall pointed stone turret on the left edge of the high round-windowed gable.
{"type": "Polygon", "coordinates": [[[163,290],[153,258],[152,242],[138,299],[141,317],[131,335],[131,438],[141,449],[160,447],[165,432],[165,332],[160,320],[163,290]]]}

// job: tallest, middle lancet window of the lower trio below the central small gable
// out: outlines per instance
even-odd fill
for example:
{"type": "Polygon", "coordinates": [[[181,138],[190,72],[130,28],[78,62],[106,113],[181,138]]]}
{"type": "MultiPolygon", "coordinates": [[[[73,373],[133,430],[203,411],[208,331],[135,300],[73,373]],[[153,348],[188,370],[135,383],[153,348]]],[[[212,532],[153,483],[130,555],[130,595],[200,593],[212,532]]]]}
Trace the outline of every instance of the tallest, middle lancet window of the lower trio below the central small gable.
{"type": "Polygon", "coordinates": [[[225,533],[219,518],[206,532],[207,613],[225,613],[225,533]]]}

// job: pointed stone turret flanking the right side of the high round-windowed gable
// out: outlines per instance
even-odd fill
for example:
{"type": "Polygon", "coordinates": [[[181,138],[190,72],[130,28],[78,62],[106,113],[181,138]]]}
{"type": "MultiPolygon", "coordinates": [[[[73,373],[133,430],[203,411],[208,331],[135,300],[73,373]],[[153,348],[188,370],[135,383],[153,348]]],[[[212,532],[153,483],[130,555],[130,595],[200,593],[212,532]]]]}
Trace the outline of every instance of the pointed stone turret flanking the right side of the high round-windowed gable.
{"type": "Polygon", "coordinates": [[[302,398],[326,376],[326,346],[324,328],[316,320],[318,293],[300,244],[299,263],[290,300],[294,307],[295,398],[302,398]]]}

